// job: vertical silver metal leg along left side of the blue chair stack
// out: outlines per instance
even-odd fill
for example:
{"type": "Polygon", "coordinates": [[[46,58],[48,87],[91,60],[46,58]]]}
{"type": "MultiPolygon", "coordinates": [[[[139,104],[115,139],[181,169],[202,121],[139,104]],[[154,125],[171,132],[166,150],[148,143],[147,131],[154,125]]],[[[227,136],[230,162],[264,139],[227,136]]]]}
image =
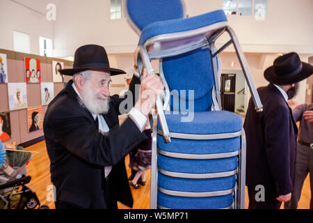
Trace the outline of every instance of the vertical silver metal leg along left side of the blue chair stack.
{"type": "Polygon", "coordinates": [[[151,160],[151,189],[150,189],[150,209],[157,209],[158,194],[158,160],[157,160],[157,124],[156,114],[152,115],[152,160],[151,160]]]}

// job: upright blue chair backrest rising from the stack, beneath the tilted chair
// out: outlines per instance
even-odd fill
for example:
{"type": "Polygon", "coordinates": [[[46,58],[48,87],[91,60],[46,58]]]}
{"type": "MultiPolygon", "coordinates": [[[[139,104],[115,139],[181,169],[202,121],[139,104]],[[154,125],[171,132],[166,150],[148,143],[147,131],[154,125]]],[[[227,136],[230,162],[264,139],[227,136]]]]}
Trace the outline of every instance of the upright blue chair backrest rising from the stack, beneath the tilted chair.
{"type": "Polygon", "coordinates": [[[171,110],[188,110],[189,100],[193,100],[194,112],[211,110],[214,74],[209,49],[195,49],[163,59],[162,69],[171,92],[171,110]],[[189,91],[193,93],[189,94],[189,91]],[[179,105],[175,104],[177,100],[179,105]],[[186,103],[186,107],[182,107],[181,102],[186,103]]]}

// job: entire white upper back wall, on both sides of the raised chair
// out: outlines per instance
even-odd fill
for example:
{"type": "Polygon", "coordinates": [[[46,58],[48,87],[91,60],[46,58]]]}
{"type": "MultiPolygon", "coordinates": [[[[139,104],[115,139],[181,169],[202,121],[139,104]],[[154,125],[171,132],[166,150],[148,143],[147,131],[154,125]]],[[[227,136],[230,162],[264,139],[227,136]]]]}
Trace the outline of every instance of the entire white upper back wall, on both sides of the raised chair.
{"type": "MultiPolygon", "coordinates": [[[[221,9],[223,0],[184,0],[189,16],[221,9]]],[[[103,45],[109,54],[133,53],[138,35],[127,20],[109,20],[109,0],[65,0],[58,5],[55,55],[72,56],[80,45],[103,45]]],[[[245,52],[313,54],[313,1],[268,0],[268,17],[228,16],[245,52]]],[[[220,42],[218,42],[220,43],[220,42]]]]}

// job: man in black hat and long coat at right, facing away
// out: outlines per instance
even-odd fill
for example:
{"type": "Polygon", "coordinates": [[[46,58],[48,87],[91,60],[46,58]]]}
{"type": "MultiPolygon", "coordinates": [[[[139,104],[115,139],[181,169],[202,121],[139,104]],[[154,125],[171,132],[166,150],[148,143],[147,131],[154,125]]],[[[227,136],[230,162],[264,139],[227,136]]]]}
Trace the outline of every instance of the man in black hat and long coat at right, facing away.
{"type": "Polygon", "coordinates": [[[275,59],[264,77],[270,84],[257,89],[263,112],[255,112],[252,100],[243,128],[246,131],[246,185],[249,208],[278,209],[293,190],[298,129],[287,100],[296,83],[309,77],[313,67],[291,52],[275,59]]]}

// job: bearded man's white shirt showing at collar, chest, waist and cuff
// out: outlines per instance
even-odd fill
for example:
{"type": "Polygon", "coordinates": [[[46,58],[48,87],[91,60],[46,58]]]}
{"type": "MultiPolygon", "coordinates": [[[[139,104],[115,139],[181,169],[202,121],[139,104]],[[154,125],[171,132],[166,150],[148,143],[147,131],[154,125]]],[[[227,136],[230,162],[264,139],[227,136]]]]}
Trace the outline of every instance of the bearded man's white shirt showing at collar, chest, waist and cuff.
{"type": "MultiPolygon", "coordinates": [[[[77,93],[77,95],[79,95],[79,98],[81,98],[81,95],[79,94],[79,92],[77,91],[77,88],[75,86],[75,84],[72,84],[72,87],[74,89],[74,91],[77,93]]],[[[109,126],[108,124],[106,124],[106,121],[104,120],[103,116],[101,114],[95,114],[90,112],[93,115],[93,118],[96,120],[96,118],[98,118],[98,123],[99,123],[99,132],[101,132],[102,134],[104,134],[105,132],[109,132],[109,126]]],[[[138,111],[138,109],[136,109],[135,107],[133,107],[130,112],[129,115],[132,116],[132,120],[136,123],[137,127],[139,130],[141,130],[141,132],[143,132],[143,128],[145,127],[145,123],[147,123],[147,117],[145,115],[143,115],[140,111],[138,111]]],[[[107,166],[104,167],[104,174],[105,177],[109,176],[109,174],[111,173],[112,170],[112,166],[107,166]]]]}

